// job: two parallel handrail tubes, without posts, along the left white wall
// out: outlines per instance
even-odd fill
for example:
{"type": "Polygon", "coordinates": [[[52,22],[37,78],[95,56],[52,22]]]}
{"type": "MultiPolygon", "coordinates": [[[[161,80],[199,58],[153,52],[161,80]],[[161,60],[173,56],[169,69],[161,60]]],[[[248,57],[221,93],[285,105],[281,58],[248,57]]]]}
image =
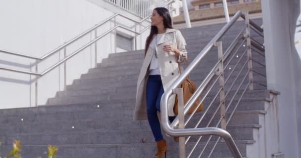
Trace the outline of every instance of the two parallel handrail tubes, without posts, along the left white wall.
{"type": "MultiPolygon", "coordinates": [[[[174,2],[174,0],[170,0],[168,1],[166,4],[164,4],[162,7],[170,4],[174,2]]],[[[171,9],[171,11],[173,11],[174,9],[171,9]]],[[[44,61],[45,59],[47,59],[48,57],[50,57],[51,55],[53,55],[54,53],[58,52],[59,50],[61,50],[62,48],[68,46],[69,44],[77,41],[78,39],[82,38],[83,36],[87,35],[88,33],[92,32],[93,30],[97,29],[98,27],[100,27],[101,25],[103,25],[104,23],[108,22],[109,20],[113,19],[114,17],[116,17],[117,15],[119,16],[122,16],[124,18],[127,18],[129,20],[132,20],[138,24],[142,23],[143,21],[145,21],[147,18],[149,18],[151,15],[143,18],[142,20],[140,21],[136,21],[134,19],[130,19],[122,14],[119,14],[119,13],[116,13],[114,14],[113,16],[107,18],[106,20],[102,21],[101,23],[97,24],[96,26],[90,28],[89,30],[85,31],[84,33],[82,33],[81,35],[75,37],[74,39],[66,42],[65,44],[53,49],[52,51],[50,51],[49,53],[47,53],[46,55],[44,55],[43,57],[39,58],[39,57],[33,57],[33,56],[27,56],[27,55],[22,55],[22,54],[19,54],[19,53],[15,53],[15,52],[9,52],[9,51],[6,51],[6,50],[1,50],[0,49],[0,52],[3,52],[3,53],[6,53],[6,54],[10,54],[10,55],[15,55],[15,56],[20,56],[20,57],[25,57],[25,58],[30,58],[30,59],[36,59],[38,60],[39,62],[42,62],[44,61]]],[[[117,29],[117,28],[122,28],[122,29],[125,29],[127,31],[130,31],[132,33],[135,33],[136,35],[141,35],[142,33],[144,33],[149,27],[151,27],[151,25],[147,26],[145,29],[143,29],[141,32],[136,32],[136,31],[133,31],[125,26],[122,26],[122,25],[117,25],[113,28],[111,28],[110,30],[108,30],[107,32],[103,33],[101,36],[99,36],[98,38],[96,38],[95,40],[92,40],[90,41],[88,44],[84,45],[83,47],[79,48],[78,50],[76,50],[75,52],[73,52],[72,54],[70,54],[69,56],[65,57],[63,60],[59,61],[58,63],[52,65],[49,69],[45,70],[44,72],[42,73],[33,73],[31,71],[22,71],[22,70],[17,70],[17,69],[11,69],[11,68],[5,68],[5,67],[0,67],[0,70],[6,70],[6,71],[11,71],[11,72],[17,72],[17,73],[22,73],[22,74],[28,74],[28,75],[35,75],[35,76],[44,76],[45,74],[49,73],[51,70],[53,70],[54,68],[56,68],[57,66],[61,65],[62,63],[64,63],[65,61],[67,61],[68,59],[70,59],[71,57],[73,57],[74,55],[76,55],[77,53],[81,52],[82,50],[84,50],[85,48],[87,48],[88,46],[92,45],[94,42],[96,42],[97,40],[100,40],[102,37],[104,37],[105,35],[111,33],[113,30],[117,29]]]]}

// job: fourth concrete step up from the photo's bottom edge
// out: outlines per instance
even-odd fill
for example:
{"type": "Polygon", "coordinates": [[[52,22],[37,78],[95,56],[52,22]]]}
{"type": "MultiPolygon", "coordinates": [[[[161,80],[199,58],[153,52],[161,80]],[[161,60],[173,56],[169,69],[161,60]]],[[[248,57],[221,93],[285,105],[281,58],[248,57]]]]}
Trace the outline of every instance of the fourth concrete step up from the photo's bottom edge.
{"type": "MultiPolygon", "coordinates": [[[[240,106],[238,107],[239,111],[246,110],[264,110],[264,90],[249,92],[245,95],[248,97],[243,98],[240,106]],[[260,94],[262,93],[262,95],[260,94]]],[[[241,92],[238,92],[240,96],[241,92]]],[[[209,94],[209,96],[204,100],[204,108],[206,109],[210,102],[212,101],[212,97],[215,94],[209,94]]],[[[226,105],[230,102],[233,97],[233,92],[230,92],[228,97],[226,98],[226,105]]],[[[219,98],[217,97],[214,104],[219,103],[219,98]]],[[[232,104],[236,104],[237,99],[234,100],[232,104]]],[[[69,113],[91,113],[96,111],[112,111],[112,110],[134,110],[135,99],[127,99],[116,100],[116,101],[101,101],[90,104],[73,104],[73,105],[55,105],[55,106],[39,106],[35,108],[18,108],[18,109],[4,109],[0,110],[0,119],[5,119],[7,117],[14,118],[15,120],[20,121],[24,116],[38,116],[38,115],[46,115],[46,114],[60,114],[60,115],[68,115],[69,113]],[[98,107],[99,105],[99,107],[98,107]],[[72,110],[72,111],[71,111],[72,110]]],[[[24,119],[24,118],[23,118],[24,119]]]]}

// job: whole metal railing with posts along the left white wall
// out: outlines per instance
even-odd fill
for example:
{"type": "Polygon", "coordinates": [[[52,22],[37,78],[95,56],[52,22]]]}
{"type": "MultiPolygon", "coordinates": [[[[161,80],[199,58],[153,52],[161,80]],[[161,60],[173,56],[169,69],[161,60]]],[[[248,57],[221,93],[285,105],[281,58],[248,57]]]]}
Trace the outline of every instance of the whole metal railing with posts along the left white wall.
{"type": "MultiPolygon", "coordinates": [[[[169,5],[171,4],[172,2],[174,2],[174,0],[169,0],[167,3],[165,3],[162,7],[165,7],[166,5],[169,5]]],[[[170,12],[173,11],[174,9],[171,9],[169,10],[170,12]]],[[[75,37],[74,39],[72,40],[69,40],[68,42],[64,43],[63,45],[53,49],[52,51],[50,51],[49,53],[47,53],[46,55],[44,55],[43,57],[34,57],[34,56],[27,56],[27,55],[23,55],[23,54],[19,54],[19,53],[16,53],[16,52],[10,52],[10,51],[7,51],[7,50],[1,50],[0,49],[0,53],[5,53],[5,54],[9,54],[9,55],[14,55],[14,56],[19,56],[19,57],[23,57],[23,58],[27,58],[27,59],[34,59],[36,60],[36,72],[32,72],[32,71],[23,71],[23,70],[18,70],[18,69],[12,69],[12,68],[6,68],[6,67],[2,67],[0,66],[0,70],[5,70],[5,71],[10,71],[10,72],[16,72],[16,73],[22,73],[22,74],[28,74],[28,75],[34,75],[34,76],[37,76],[38,78],[35,79],[35,85],[36,85],[36,89],[35,89],[35,98],[36,98],[36,103],[35,105],[37,106],[38,105],[38,101],[37,101],[37,98],[38,98],[38,79],[42,76],[45,76],[46,74],[48,74],[50,71],[52,71],[53,69],[55,69],[56,67],[58,67],[59,65],[61,64],[64,64],[64,69],[66,68],[65,66],[65,63],[67,60],[69,60],[70,58],[72,58],[74,55],[82,52],[85,48],[91,46],[92,44],[96,43],[98,40],[100,40],[101,38],[103,38],[105,35],[111,33],[112,31],[116,30],[117,28],[122,28],[124,30],[127,30],[127,31],[130,31],[134,34],[136,34],[135,38],[137,38],[137,35],[141,35],[142,33],[144,33],[146,30],[148,30],[150,27],[151,27],[151,24],[147,27],[145,27],[142,31],[140,32],[136,32],[136,31],[133,31],[125,26],[122,26],[122,25],[116,25],[114,26],[113,28],[109,29],[108,31],[106,31],[105,33],[101,34],[100,36],[97,36],[97,29],[102,26],[103,24],[109,22],[110,20],[112,20],[113,18],[115,18],[116,16],[121,16],[123,18],[126,18],[128,20],[131,20],[133,22],[136,23],[136,25],[139,25],[141,24],[142,22],[146,21],[150,16],[146,16],[145,18],[141,19],[140,21],[137,21],[137,20],[134,20],[134,19],[131,19],[129,17],[126,17],[122,14],[119,14],[119,13],[116,13],[112,16],[110,16],[109,18],[107,18],[106,20],[100,22],[99,24],[97,24],[96,26],[90,28],[89,30],[85,31],[84,33],[82,33],[81,35],[75,37]],[[82,46],[81,48],[77,49],[76,51],[74,51],[73,53],[71,53],[70,55],[66,56],[66,49],[67,49],[67,46],[74,43],[75,41],[77,40],[80,40],[82,38],[84,38],[85,35],[87,34],[91,34],[91,33],[95,33],[95,39],[88,42],[87,44],[85,44],[84,46],[82,46]],[[63,50],[64,51],[64,55],[65,57],[60,60],[59,62],[55,63],[54,65],[50,66],[50,68],[46,69],[45,71],[43,71],[42,73],[39,73],[38,72],[38,64],[45,61],[46,59],[48,59],[50,56],[54,55],[55,53],[58,53],[60,50],[63,50]]],[[[97,44],[95,44],[95,66],[97,65],[97,44]]],[[[64,87],[66,87],[66,71],[64,71],[64,87]]]]}

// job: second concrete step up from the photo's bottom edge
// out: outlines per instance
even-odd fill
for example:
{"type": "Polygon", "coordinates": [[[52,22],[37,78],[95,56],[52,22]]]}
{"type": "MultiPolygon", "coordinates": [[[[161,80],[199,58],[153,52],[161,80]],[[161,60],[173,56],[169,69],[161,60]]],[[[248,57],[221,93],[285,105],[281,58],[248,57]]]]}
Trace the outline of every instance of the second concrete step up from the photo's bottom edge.
{"type": "MultiPolygon", "coordinates": [[[[191,126],[191,128],[194,126],[191,126]]],[[[227,130],[235,135],[235,139],[240,140],[240,134],[243,130],[248,132],[249,128],[259,128],[260,125],[231,125],[227,130]],[[234,131],[236,130],[237,131],[234,131]],[[243,129],[243,130],[241,130],[243,129]],[[235,133],[236,132],[236,133],[235,133]]],[[[190,127],[187,127],[190,128],[190,127]]],[[[110,132],[110,131],[151,131],[147,120],[133,121],[132,119],[102,119],[96,121],[93,119],[83,120],[58,120],[53,122],[24,122],[18,125],[1,125],[1,135],[10,134],[33,134],[33,133],[57,133],[57,132],[110,132]],[[74,128],[72,128],[74,127],[74,128]]],[[[249,137],[252,139],[251,137],[249,137]]],[[[152,139],[151,139],[152,140],[152,139]]],[[[206,139],[205,139],[206,140],[206,139]]]]}

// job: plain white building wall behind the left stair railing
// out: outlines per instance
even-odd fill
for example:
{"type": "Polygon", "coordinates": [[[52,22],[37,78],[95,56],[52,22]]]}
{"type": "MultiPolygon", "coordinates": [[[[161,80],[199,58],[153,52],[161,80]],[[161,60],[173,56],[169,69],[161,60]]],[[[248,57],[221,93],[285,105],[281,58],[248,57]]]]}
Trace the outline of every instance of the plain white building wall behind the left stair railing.
{"type": "MultiPolygon", "coordinates": [[[[115,10],[116,11],[116,10],[115,10]]],[[[20,54],[42,57],[54,48],[85,32],[114,13],[87,0],[1,0],[0,1],[0,49],[20,54]]],[[[125,26],[133,22],[117,17],[125,26]]],[[[146,26],[148,23],[144,23],[146,26]]],[[[117,24],[116,24],[117,25],[117,24]]],[[[143,26],[137,26],[141,30],[143,26]]],[[[98,35],[114,27],[114,21],[98,29],[98,35]]],[[[135,28],[135,27],[134,27],[135,28]]],[[[122,29],[118,29],[123,31],[122,29]]],[[[126,32],[125,32],[126,33],[126,32]]],[[[137,48],[144,48],[149,31],[137,37],[137,48]]],[[[115,53],[115,33],[98,41],[98,62],[109,53],[115,53]]],[[[129,35],[134,36],[133,33],[129,35]]],[[[94,32],[67,47],[67,55],[95,38],[94,32]]],[[[38,65],[42,73],[64,56],[63,50],[38,65]]],[[[0,66],[35,71],[34,60],[3,54],[0,52],[0,66]]],[[[95,66],[95,47],[86,48],[66,62],[66,82],[72,84],[81,74],[95,66]]],[[[64,89],[63,65],[38,79],[38,105],[44,105],[48,98],[64,89]]],[[[35,76],[0,70],[0,109],[35,106],[35,76]]]]}

